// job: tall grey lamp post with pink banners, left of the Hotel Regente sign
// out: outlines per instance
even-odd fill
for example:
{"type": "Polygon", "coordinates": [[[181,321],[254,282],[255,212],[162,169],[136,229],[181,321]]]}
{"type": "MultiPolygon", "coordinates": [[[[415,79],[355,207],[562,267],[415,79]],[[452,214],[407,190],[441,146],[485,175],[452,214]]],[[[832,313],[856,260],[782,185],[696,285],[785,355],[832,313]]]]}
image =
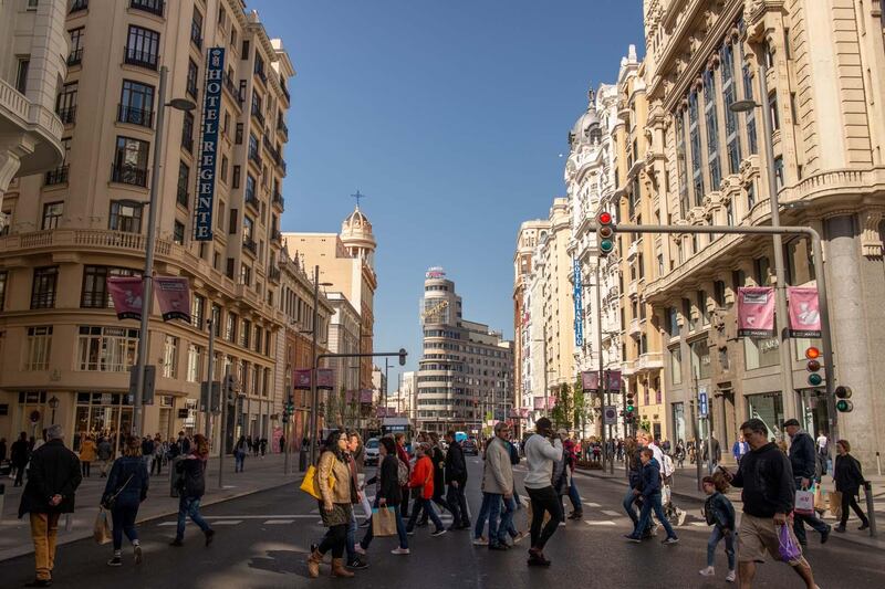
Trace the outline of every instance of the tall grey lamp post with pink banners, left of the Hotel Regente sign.
{"type": "Polygon", "coordinates": [[[197,107],[190,101],[184,98],[173,98],[166,103],[166,76],[169,69],[165,65],[159,69],[159,88],[157,104],[157,128],[154,132],[154,159],[150,166],[150,198],[147,212],[147,244],[145,253],[145,270],[142,276],[142,324],[138,330],[138,359],[135,364],[135,399],[133,399],[133,430],[135,435],[142,437],[144,429],[144,391],[145,391],[145,366],[150,343],[148,333],[150,311],[153,308],[153,280],[154,280],[154,249],[157,241],[157,192],[159,186],[159,166],[163,155],[163,124],[165,122],[166,107],[170,106],[177,111],[192,111],[197,107]]]}

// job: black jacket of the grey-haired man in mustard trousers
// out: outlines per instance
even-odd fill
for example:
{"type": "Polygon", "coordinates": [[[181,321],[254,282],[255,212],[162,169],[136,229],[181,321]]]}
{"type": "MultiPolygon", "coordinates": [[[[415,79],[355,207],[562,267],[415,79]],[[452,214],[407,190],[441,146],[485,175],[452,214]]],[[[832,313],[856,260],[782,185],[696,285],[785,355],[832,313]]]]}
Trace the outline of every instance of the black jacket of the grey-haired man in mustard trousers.
{"type": "Polygon", "coordinates": [[[64,448],[61,440],[50,440],[31,454],[28,484],[21,495],[19,517],[27,513],[73,513],[74,493],[82,480],[76,454],[64,448]],[[59,505],[49,504],[53,495],[62,496],[59,505]]]}

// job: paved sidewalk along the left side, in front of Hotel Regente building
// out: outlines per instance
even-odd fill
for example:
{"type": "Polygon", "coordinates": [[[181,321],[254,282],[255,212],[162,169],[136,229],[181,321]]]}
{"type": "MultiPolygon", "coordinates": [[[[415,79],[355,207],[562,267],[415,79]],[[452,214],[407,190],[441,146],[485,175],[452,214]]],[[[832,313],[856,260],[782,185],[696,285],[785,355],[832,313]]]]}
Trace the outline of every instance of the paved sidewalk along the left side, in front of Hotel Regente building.
{"type": "MultiPolygon", "coordinates": [[[[269,454],[263,459],[249,456],[246,459],[246,472],[233,473],[233,457],[225,459],[223,483],[225,487],[218,488],[218,457],[209,459],[209,469],[206,474],[206,495],[201,505],[211,505],[259,491],[291,484],[295,492],[295,482],[300,482],[303,474],[298,472],[298,454],[290,457],[293,473],[283,474],[283,455],[269,454]]],[[[59,522],[58,544],[67,544],[92,536],[93,524],[98,514],[98,501],[104,492],[106,478],[101,478],[98,469],[93,465],[92,476],[83,478],[76,493],[76,511],[70,515],[70,522],[62,516],[59,522]]],[[[28,517],[19,519],[19,502],[24,487],[13,487],[10,478],[3,477],[0,483],[6,484],[6,502],[2,517],[0,517],[0,560],[8,560],[17,556],[33,553],[30,525],[28,517]]],[[[169,472],[164,469],[162,475],[150,477],[150,490],[147,501],[138,511],[138,522],[166,517],[178,513],[178,499],[169,496],[169,472]]]]}

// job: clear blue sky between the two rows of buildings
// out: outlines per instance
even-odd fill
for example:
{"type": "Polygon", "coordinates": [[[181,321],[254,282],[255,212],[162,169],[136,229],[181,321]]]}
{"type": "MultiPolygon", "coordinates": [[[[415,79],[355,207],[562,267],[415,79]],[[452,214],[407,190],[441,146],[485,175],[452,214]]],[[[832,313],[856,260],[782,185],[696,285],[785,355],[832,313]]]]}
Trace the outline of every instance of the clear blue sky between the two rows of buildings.
{"type": "MultiPolygon", "coordinates": [[[[592,83],[613,82],[639,0],[249,0],[298,72],[283,231],[339,231],[360,189],[378,241],[375,349],[420,357],[424,272],[512,337],[513,249],[546,217],[592,83]]],[[[382,361],[383,365],[383,361],[382,361]]],[[[397,370],[391,371],[391,390],[397,370]]]]}

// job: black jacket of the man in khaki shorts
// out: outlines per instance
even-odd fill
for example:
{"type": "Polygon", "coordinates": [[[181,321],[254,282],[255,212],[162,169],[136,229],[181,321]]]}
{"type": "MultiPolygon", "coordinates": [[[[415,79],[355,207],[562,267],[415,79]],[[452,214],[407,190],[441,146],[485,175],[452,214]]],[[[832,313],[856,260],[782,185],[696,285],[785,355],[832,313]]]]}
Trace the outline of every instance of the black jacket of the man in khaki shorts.
{"type": "Polygon", "coordinates": [[[774,517],[774,514],[789,514],[793,511],[793,470],[774,442],[745,454],[731,484],[743,488],[741,499],[746,514],[774,517]]]}

